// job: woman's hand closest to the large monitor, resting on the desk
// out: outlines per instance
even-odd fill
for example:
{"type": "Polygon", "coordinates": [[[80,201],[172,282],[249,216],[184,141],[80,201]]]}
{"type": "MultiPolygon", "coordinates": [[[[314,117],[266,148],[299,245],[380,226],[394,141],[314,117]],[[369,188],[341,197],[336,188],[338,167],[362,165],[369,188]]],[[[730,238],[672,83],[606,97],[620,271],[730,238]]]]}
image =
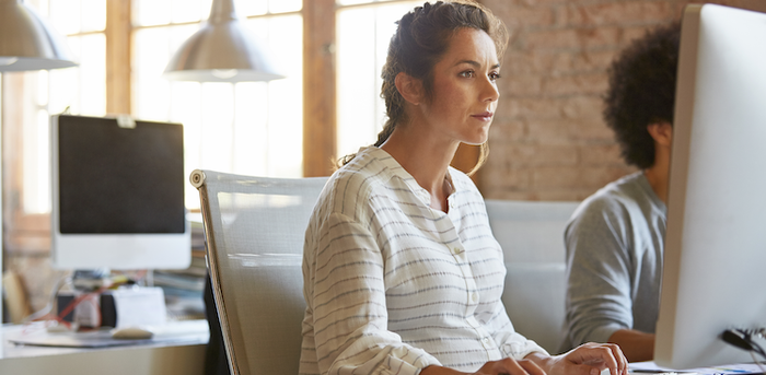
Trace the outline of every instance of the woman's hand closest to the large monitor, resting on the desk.
{"type": "Polygon", "coordinates": [[[611,375],[627,375],[628,360],[614,343],[589,342],[560,355],[532,353],[526,359],[536,362],[549,375],[599,375],[608,368],[611,375]]]}

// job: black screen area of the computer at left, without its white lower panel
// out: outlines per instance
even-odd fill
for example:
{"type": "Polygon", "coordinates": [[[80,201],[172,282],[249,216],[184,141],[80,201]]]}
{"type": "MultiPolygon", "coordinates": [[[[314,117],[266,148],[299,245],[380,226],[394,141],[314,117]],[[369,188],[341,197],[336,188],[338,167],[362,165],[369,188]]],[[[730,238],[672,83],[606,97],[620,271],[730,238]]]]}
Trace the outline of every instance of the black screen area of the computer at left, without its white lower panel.
{"type": "Polygon", "coordinates": [[[58,118],[62,234],[184,233],[181,124],[58,118]]]}

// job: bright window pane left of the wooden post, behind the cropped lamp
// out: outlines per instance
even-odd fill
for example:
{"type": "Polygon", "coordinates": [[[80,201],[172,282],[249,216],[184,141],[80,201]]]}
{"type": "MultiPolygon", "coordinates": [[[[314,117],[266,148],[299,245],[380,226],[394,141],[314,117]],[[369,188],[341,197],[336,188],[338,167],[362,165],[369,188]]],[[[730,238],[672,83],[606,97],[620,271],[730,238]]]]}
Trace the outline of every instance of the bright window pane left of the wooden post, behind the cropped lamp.
{"type": "Polygon", "coordinates": [[[106,0],[37,1],[35,9],[67,35],[79,67],[27,72],[25,85],[33,95],[22,108],[24,134],[22,210],[50,212],[50,116],[106,114],[106,0]]]}

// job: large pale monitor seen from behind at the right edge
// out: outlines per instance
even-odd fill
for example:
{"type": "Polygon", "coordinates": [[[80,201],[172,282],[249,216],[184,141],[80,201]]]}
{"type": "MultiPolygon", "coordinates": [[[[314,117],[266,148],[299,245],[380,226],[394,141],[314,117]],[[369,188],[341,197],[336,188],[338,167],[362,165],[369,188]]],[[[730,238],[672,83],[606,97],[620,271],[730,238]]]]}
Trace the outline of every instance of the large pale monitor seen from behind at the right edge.
{"type": "Polygon", "coordinates": [[[687,5],[680,54],[654,361],[753,362],[721,333],[766,327],[766,14],[687,5]]]}

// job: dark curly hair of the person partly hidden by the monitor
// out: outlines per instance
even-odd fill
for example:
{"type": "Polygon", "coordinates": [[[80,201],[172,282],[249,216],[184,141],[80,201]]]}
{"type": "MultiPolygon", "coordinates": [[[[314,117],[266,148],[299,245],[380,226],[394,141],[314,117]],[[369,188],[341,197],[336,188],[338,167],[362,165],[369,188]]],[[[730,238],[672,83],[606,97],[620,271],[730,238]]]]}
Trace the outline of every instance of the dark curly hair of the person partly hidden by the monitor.
{"type": "Polygon", "coordinates": [[[641,169],[654,165],[653,122],[673,122],[681,24],[653,28],[612,62],[604,96],[604,120],[614,130],[625,162],[641,169]]]}

